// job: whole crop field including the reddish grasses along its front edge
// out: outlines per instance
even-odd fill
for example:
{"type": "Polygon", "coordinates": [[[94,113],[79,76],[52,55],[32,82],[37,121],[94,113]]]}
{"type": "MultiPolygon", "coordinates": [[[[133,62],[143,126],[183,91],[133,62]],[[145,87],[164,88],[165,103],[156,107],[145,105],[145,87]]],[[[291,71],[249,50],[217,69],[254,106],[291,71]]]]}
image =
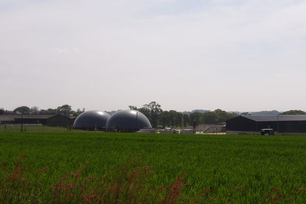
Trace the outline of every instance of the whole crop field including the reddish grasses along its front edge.
{"type": "Polygon", "coordinates": [[[19,130],[0,125],[0,203],[306,201],[305,136],[19,130]]]}

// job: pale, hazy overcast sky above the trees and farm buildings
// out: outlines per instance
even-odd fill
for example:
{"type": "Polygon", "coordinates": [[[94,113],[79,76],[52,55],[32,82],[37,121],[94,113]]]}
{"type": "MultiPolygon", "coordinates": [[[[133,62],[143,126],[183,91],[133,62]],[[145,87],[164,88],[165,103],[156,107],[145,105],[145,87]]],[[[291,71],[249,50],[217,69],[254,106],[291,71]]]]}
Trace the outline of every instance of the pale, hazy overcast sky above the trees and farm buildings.
{"type": "Polygon", "coordinates": [[[306,111],[306,1],[0,0],[0,108],[306,111]]]}

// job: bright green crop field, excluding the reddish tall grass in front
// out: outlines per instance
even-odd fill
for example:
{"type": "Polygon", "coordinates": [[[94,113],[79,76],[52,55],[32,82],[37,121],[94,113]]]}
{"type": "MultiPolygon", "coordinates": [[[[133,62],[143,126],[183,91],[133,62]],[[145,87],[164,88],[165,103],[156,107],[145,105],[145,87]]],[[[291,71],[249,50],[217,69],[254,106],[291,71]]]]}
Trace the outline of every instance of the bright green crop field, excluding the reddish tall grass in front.
{"type": "MultiPolygon", "coordinates": [[[[177,203],[195,202],[188,198],[199,195],[199,203],[306,200],[305,136],[115,134],[56,127],[27,127],[20,133],[19,129],[0,125],[0,181],[21,155],[27,155],[22,161],[25,180],[35,180],[41,168],[49,167],[39,177],[39,188],[32,189],[40,203],[52,203],[48,198],[58,179],[85,161],[82,178],[112,181],[131,155],[141,160],[139,166],[154,170],[143,180],[144,188],[170,186],[184,173],[188,186],[177,203]]],[[[158,198],[165,194],[167,190],[161,191],[158,198]]]]}

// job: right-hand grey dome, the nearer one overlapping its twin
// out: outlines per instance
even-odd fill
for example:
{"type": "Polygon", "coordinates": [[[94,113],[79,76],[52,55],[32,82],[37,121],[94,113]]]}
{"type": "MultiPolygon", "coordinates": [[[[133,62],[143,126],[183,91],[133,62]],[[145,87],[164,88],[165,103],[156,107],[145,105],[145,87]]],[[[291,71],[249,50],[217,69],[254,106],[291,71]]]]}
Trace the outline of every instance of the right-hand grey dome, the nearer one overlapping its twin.
{"type": "Polygon", "coordinates": [[[107,130],[117,129],[134,132],[141,128],[151,127],[150,121],[139,111],[122,110],[114,113],[106,122],[107,130]]]}

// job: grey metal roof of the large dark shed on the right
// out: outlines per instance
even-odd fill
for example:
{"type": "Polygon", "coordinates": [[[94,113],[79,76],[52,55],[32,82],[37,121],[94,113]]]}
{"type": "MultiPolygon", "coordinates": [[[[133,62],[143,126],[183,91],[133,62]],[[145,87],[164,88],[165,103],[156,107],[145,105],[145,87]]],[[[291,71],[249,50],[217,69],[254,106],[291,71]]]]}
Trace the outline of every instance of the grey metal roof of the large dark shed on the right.
{"type": "Polygon", "coordinates": [[[301,121],[306,120],[306,115],[242,115],[254,121],[301,121]]]}

